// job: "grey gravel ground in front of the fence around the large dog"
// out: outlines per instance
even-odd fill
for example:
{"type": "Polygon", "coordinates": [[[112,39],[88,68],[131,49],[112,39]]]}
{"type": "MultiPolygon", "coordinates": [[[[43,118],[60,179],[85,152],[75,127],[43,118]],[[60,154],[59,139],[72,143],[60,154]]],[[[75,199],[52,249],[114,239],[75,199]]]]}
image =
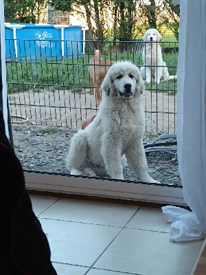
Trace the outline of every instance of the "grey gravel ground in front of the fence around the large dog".
{"type": "MultiPolygon", "coordinates": [[[[65,159],[71,137],[77,129],[59,127],[47,131],[44,126],[12,126],[14,149],[24,170],[68,175],[65,159]]],[[[144,140],[144,144],[147,139],[144,140]]],[[[176,151],[152,152],[146,155],[148,173],[162,184],[181,186],[176,151]]],[[[124,179],[139,181],[129,167],[124,168],[124,179]]]]}

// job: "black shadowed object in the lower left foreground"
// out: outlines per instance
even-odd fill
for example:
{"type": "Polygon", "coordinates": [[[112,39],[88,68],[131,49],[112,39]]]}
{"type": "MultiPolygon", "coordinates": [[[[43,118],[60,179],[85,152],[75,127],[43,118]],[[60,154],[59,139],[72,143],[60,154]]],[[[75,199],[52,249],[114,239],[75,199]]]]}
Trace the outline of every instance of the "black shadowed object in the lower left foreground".
{"type": "Polygon", "coordinates": [[[56,275],[47,237],[25,190],[21,163],[5,136],[1,111],[0,158],[0,274],[56,275]]]}

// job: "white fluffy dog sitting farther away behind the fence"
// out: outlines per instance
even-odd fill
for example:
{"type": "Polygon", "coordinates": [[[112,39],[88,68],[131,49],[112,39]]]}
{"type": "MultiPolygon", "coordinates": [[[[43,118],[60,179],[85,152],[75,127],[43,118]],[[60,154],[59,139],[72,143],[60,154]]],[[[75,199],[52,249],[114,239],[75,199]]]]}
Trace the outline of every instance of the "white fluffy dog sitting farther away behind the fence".
{"type": "Polygon", "coordinates": [[[151,80],[155,80],[155,82],[159,84],[160,80],[176,78],[176,76],[169,75],[168,67],[163,61],[161,46],[158,43],[161,41],[161,34],[158,30],[147,30],[142,40],[146,43],[142,52],[144,67],[140,68],[140,72],[141,76],[146,79],[146,82],[150,83],[151,80]]]}

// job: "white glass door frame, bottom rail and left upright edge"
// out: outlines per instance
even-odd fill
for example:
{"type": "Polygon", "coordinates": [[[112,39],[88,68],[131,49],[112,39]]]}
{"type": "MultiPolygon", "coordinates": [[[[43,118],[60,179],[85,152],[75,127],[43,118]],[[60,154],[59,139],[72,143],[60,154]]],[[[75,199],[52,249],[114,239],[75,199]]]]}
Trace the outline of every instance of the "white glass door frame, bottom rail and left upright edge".
{"type": "MultiPolygon", "coordinates": [[[[1,1],[1,6],[3,6],[3,1],[1,1]]],[[[3,88],[1,87],[1,102],[5,124],[8,125],[4,45],[4,24],[3,17],[1,16],[1,70],[3,83],[3,88]]],[[[34,66],[32,69],[34,69],[34,66]]],[[[184,204],[181,186],[144,184],[138,181],[112,180],[72,175],[55,175],[54,173],[43,173],[41,171],[27,171],[25,172],[25,179],[27,188],[36,190],[159,203],[184,204]]]]}

